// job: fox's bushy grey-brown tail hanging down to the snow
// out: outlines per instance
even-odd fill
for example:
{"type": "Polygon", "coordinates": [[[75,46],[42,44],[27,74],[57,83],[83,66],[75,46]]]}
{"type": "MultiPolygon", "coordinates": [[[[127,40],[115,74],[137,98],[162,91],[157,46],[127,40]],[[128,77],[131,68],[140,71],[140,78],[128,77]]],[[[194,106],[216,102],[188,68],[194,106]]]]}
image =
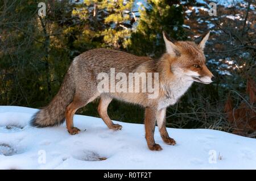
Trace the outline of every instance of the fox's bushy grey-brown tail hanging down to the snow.
{"type": "Polygon", "coordinates": [[[60,125],[65,120],[65,109],[72,102],[75,93],[75,85],[71,74],[65,75],[59,92],[48,106],[35,113],[30,124],[33,127],[53,127],[60,125]]]}

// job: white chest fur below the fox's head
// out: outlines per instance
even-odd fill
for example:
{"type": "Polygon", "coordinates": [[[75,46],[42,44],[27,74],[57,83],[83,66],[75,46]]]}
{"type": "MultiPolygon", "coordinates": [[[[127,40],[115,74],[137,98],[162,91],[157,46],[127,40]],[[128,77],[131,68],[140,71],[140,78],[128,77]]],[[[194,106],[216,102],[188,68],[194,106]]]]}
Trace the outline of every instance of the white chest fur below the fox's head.
{"type": "Polygon", "coordinates": [[[193,81],[186,78],[179,78],[175,81],[161,85],[161,89],[165,92],[165,96],[160,100],[158,104],[158,110],[166,108],[170,105],[174,105],[177,100],[179,100],[179,98],[185,94],[192,83],[193,81]]]}

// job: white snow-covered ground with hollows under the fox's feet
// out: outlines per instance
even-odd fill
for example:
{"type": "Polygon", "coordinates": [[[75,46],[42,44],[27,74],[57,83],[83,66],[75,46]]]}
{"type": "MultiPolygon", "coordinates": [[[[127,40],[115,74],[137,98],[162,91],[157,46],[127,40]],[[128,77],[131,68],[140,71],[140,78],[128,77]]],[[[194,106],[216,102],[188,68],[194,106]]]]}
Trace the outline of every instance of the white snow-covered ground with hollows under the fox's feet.
{"type": "MultiPolygon", "coordinates": [[[[37,110],[0,106],[0,169],[256,169],[256,139],[210,129],[171,129],[177,145],[150,151],[142,124],[119,123],[109,130],[101,119],[75,116],[82,131],[69,135],[65,125],[33,128],[37,110]]],[[[118,121],[115,121],[118,123],[118,121]]]]}

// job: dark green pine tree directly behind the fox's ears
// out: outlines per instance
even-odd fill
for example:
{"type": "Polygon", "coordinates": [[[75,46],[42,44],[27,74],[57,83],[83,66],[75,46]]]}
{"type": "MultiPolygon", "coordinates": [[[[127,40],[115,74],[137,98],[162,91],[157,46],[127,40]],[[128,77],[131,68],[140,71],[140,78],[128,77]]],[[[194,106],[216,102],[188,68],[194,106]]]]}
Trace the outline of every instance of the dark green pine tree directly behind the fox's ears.
{"type": "Polygon", "coordinates": [[[184,39],[182,6],[179,1],[147,1],[140,10],[137,31],[131,35],[129,51],[138,55],[159,57],[164,51],[162,31],[170,37],[184,39]]]}

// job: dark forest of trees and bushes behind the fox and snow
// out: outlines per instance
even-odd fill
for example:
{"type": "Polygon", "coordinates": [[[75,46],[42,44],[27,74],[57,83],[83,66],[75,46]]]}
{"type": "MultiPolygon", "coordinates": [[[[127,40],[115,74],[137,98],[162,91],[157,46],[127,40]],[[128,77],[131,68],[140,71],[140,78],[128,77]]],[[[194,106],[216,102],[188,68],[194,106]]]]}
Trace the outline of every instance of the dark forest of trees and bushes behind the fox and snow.
{"type": "MultiPolygon", "coordinates": [[[[167,125],[255,137],[254,1],[218,5],[217,16],[209,16],[209,1],[52,0],[43,1],[43,17],[39,2],[0,1],[1,105],[46,106],[73,58],[86,50],[112,48],[159,58],[165,51],[163,30],[176,40],[200,39],[211,30],[205,54],[217,81],[195,83],[168,108],[167,125]]],[[[79,113],[98,117],[97,103],[79,113]]],[[[109,115],[130,123],[143,123],[144,117],[141,107],[117,100],[109,115]]]]}

